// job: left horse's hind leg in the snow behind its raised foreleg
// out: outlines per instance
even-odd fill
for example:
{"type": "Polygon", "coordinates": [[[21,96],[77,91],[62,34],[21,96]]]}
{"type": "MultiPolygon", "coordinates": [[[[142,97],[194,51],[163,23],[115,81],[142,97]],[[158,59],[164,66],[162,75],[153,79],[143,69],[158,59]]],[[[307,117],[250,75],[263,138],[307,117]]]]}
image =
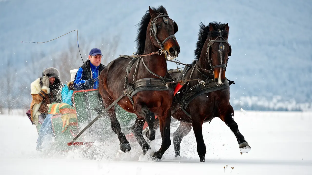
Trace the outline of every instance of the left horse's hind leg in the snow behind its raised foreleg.
{"type": "Polygon", "coordinates": [[[142,130],[143,130],[143,125],[144,125],[145,120],[137,117],[135,120],[134,126],[132,127],[132,132],[136,138],[136,140],[139,142],[143,149],[143,154],[145,155],[146,151],[151,149],[149,144],[146,142],[142,135],[142,130]]]}

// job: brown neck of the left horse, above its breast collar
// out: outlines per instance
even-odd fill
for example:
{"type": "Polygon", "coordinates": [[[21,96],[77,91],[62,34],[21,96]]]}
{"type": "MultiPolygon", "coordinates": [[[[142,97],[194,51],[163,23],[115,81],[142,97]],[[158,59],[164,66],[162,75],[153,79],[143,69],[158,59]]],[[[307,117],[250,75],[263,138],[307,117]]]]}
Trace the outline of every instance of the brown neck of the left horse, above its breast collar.
{"type": "MultiPolygon", "coordinates": [[[[159,48],[157,48],[156,46],[154,46],[154,44],[152,43],[152,41],[150,40],[150,36],[147,35],[146,40],[145,40],[145,47],[144,47],[144,54],[149,54],[152,52],[157,52],[159,50],[159,48]]],[[[167,69],[167,61],[165,58],[165,54],[154,54],[151,56],[144,56],[142,57],[142,59],[144,60],[144,63],[146,64],[146,66],[154,73],[156,73],[159,76],[164,77],[168,71],[167,69]]],[[[142,63],[141,63],[142,64],[142,63]]],[[[144,65],[142,64],[142,66],[144,67],[144,65]]],[[[145,67],[144,67],[145,69],[145,67]]],[[[148,72],[148,74],[150,74],[148,72]]]]}

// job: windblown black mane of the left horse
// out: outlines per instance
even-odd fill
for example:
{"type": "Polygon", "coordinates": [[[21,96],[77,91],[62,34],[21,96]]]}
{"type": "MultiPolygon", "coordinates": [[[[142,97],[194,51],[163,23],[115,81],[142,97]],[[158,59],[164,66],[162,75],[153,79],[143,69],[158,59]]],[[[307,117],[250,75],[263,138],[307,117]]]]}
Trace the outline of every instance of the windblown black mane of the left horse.
{"type": "MultiPolygon", "coordinates": [[[[166,15],[166,9],[163,6],[159,6],[157,7],[157,9],[155,7],[151,7],[151,9],[153,9],[155,12],[160,12],[160,13],[164,13],[166,15]]],[[[144,53],[144,49],[145,49],[145,40],[146,40],[146,30],[147,27],[149,25],[149,21],[151,20],[151,15],[149,14],[149,10],[147,10],[145,12],[145,15],[142,17],[141,21],[136,25],[139,29],[138,29],[138,35],[135,39],[136,43],[137,43],[137,52],[136,54],[143,54],[144,53]]]]}

